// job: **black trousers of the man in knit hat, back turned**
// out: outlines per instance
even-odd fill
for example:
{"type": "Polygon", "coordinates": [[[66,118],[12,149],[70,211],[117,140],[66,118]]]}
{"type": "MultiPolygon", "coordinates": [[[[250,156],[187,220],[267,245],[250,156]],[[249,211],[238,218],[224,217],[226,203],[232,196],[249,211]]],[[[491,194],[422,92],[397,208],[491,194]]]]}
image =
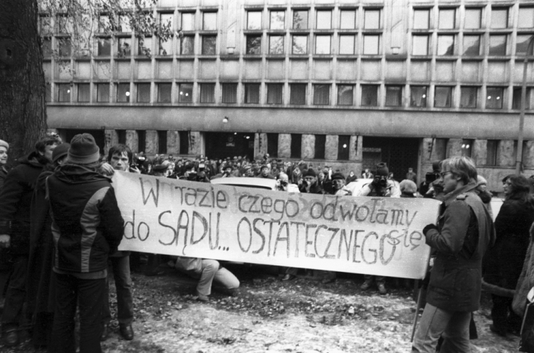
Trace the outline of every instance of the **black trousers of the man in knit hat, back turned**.
{"type": "Polygon", "coordinates": [[[82,280],[56,273],[56,310],[48,352],[75,353],[74,317],[80,306],[80,353],[101,353],[105,278],[82,280]]]}

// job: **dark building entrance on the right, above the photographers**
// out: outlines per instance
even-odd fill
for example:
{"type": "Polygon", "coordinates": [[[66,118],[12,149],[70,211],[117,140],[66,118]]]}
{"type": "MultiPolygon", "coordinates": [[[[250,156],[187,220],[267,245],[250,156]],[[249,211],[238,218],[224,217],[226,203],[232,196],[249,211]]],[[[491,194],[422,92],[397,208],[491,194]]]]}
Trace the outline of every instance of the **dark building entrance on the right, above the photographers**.
{"type": "Polygon", "coordinates": [[[364,137],[362,170],[375,170],[379,162],[387,163],[394,179],[402,181],[413,168],[417,172],[419,157],[419,139],[364,137]]]}

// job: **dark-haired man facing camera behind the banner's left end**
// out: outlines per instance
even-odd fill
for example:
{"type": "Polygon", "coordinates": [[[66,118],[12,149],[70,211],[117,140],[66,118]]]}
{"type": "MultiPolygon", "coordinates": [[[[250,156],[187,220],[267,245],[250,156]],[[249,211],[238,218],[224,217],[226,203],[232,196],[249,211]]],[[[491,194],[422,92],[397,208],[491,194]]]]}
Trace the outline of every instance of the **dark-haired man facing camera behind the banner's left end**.
{"type": "MultiPolygon", "coordinates": [[[[115,144],[108,152],[108,163],[115,170],[140,174],[140,169],[132,164],[132,150],[125,144],[115,144]]],[[[122,338],[131,340],[134,337],[133,322],[133,296],[132,278],[130,277],[130,251],[116,251],[110,254],[115,288],[117,289],[117,318],[119,320],[119,332],[122,338]]],[[[103,309],[103,331],[101,341],[108,339],[110,312],[110,285],[109,279],[105,285],[105,300],[103,309]]]]}

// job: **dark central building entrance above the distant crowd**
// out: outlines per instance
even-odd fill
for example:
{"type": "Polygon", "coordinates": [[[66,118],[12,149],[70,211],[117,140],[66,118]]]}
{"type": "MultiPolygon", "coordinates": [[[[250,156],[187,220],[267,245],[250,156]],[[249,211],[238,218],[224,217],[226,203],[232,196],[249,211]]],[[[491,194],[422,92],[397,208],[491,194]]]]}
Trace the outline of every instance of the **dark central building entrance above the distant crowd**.
{"type": "Polygon", "coordinates": [[[206,156],[208,158],[254,158],[254,134],[242,132],[206,132],[206,156]]]}

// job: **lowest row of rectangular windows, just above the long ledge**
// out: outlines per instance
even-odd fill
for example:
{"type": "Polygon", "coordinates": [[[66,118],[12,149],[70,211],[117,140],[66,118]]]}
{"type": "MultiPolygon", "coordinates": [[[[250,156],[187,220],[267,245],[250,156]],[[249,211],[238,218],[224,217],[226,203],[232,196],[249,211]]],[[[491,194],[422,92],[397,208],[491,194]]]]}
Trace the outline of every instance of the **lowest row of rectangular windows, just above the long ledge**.
{"type": "MultiPolygon", "coordinates": [[[[200,103],[215,103],[215,83],[199,83],[199,97],[197,101],[200,103]]],[[[332,85],[313,84],[313,105],[330,105],[330,89],[332,85]]],[[[51,101],[50,85],[48,87],[47,101],[51,101]]],[[[56,102],[70,102],[72,85],[69,83],[56,83],[56,102]]],[[[111,90],[110,83],[95,83],[95,97],[93,102],[110,102],[111,90]]],[[[156,83],[157,98],[156,102],[170,103],[172,102],[172,83],[156,83]]],[[[90,102],[90,83],[77,84],[77,97],[75,102],[90,102]]],[[[136,100],[135,102],[150,102],[151,101],[151,84],[150,83],[136,83],[136,100]]],[[[236,104],[239,102],[238,98],[238,84],[237,83],[221,83],[221,98],[219,102],[226,104],[236,104]]],[[[354,105],[354,85],[336,85],[337,88],[337,105],[354,105]]],[[[290,83],[289,84],[290,105],[306,105],[308,99],[308,84],[306,83],[290,83]]],[[[379,106],[379,85],[361,85],[361,105],[364,107],[379,106]]],[[[404,97],[404,86],[402,85],[385,85],[385,100],[386,107],[402,107],[404,97]]],[[[503,109],[503,101],[505,97],[506,88],[503,87],[487,87],[485,107],[487,109],[503,109]]],[[[429,87],[412,85],[409,87],[409,107],[427,107],[429,87]]],[[[528,88],[527,109],[530,108],[530,88],[528,88]]],[[[115,102],[130,102],[130,83],[115,84],[115,102]]],[[[177,84],[177,102],[192,103],[194,102],[194,85],[193,83],[178,83],[177,84]]],[[[475,86],[461,86],[460,88],[460,104],[461,108],[476,108],[478,107],[479,88],[475,86]]],[[[454,87],[451,86],[434,86],[434,107],[450,108],[454,107],[454,87]]],[[[260,83],[246,83],[244,84],[244,92],[242,101],[245,104],[260,104],[261,100],[261,84],[260,83]]],[[[513,102],[512,109],[520,109],[521,88],[513,88],[513,102]]],[[[266,84],[266,104],[281,105],[284,101],[284,84],[283,83],[267,83],[266,84]]]]}

